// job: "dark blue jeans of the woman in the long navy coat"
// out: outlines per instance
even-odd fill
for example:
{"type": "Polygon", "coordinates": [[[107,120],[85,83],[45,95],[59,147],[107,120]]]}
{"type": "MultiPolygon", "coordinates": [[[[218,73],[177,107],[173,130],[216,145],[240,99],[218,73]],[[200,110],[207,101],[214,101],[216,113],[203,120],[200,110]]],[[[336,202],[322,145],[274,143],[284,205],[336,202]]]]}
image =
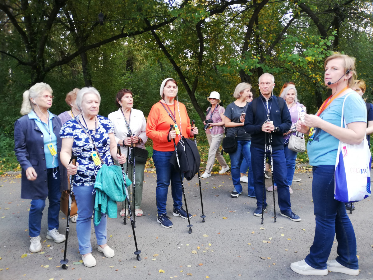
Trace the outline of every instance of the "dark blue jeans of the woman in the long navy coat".
{"type": "MultiPolygon", "coordinates": [[[[60,212],[60,171],[57,168],[57,179],[53,178],[53,168],[47,169],[48,180],[48,230],[59,227],[58,215],[60,212]]],[[[30,236],[35,237],[40,235],[41,218],[43,217],[43,210],[46,206],[45,199],[32,199],[30,212],[28,214],[28,228],[30,236]]]]}

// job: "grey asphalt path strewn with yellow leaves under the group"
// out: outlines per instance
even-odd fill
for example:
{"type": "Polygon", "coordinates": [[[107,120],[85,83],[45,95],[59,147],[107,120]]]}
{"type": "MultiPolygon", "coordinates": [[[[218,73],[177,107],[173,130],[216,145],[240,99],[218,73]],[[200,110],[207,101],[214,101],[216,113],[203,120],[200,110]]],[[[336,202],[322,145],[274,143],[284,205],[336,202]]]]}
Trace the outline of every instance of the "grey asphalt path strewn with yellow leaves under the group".
{"type": "MultiPolygon", "coordinates": [[[[279,214],[276,195],[277,222],[274,223],[272,192],[267,192],[267,211],[264,224],[253,215],[256,199],[244,193],[231,198],[233,189],[230,175],[213,174],[201,179],[204,214],[202,223],[201,200],[197,175],[184,180],[186,200],[191,218],[188,221],[172,216],[172,197],[169,191],[167,211],[172,228],[157,223],[156,174],[145,173],[142,210],[136,218],[136,238],[141,250],[141,261],[134,255],[132,228],[122,218],[109,219],[108,245],[115,250],[113,258],[105,258],[97,251],[92,227],[91,243],[95,267],[77,264],[81,260],[76,238],[76,224],[70,223],[67,258],[68,269],[63,270],[65,243],[46,239],[47,206],[41,225],[42,250],[30,253],[28,209],[30,200],[21,199],[21,179],[15,176],[0,180],[0,279],[3,280],[70,280],[70,279],[373,279],[373,223],[372,199],[356,203],[349,214],[357,237],[360,274],[348,276],[329,272],[327,276],[302,276],[290,269],[291,262],[304,259],[313,243],[314,215],[311,195],[311,172],[295,174],[302,180],[293,182],[292,210],[302,221],[294,222],[279,214]],[[23,258],[22,258],[23,256],[23,258]],[[162,272],[164,271],[164,272],[162,272]],[[190,275],[188,275],[190,274],[190,275]]],[[[271,184],[266,180],[266,185],[271,184]]],[[[48,205],[48,203],[47,203],[48,205]]],[[[118,217],[121,209],[118,203],[118,217]]],[[[59,232],[65,234],[66,218],[60,212],[59,232]]],[[[336,240],[329,259],[336,257],[336,240]]]]}

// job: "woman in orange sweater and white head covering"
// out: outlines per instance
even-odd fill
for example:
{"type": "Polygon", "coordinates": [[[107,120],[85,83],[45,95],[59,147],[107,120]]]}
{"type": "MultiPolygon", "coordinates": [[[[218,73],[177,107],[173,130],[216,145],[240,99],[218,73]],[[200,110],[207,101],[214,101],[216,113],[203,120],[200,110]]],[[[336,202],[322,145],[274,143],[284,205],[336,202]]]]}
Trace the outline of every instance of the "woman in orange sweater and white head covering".
{"type": "MultiPolygon", "coordinates": [[[[178,84],[172,78],[167,78],[162,82],[160,88],[162,99],[153,105],[150,110],[146,135],[153,140],[153,161],[157,173],[156,200],[158,209],[157,222],[164,228],[172,227],[172,222],[167,217],[166,201],[168,187],[171,182],[171,194],[173,199],[172,215],[187,219],[186,212],[182,205],[182,188],[179,171],[175,170],[170,163],[170,158],[174,153],[176,144],[184,137],[194,137],[198,134],[197,127],[190,124],[185,105],[177,100],[178,84]],[[177,125],[178,130],[170,130],[170,125],[177,125]]],[[[176,127],[175,127],[176,128],[176,127]]],[[[184,175],[182,176],[184,178],[184,175]]],[[[189,218],[192,215],[189,214],[189,218]]]]}

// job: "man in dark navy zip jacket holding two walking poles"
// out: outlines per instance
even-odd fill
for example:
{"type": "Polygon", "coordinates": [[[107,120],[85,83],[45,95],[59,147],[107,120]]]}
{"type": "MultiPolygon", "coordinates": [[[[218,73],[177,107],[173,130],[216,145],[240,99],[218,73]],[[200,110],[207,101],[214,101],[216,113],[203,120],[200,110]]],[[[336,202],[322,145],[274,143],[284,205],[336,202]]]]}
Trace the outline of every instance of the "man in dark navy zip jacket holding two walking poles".
{"type": "Polygon", "coordinates": [[[263,189],[264,148],[267,143],[267,158],[270,159],[269,141],[272,141],[273,172],[278,190],[278,203],[281,215],[292,221],[301,218],[291,211],[289,186],[286,182],[286,160],[283,150],[283,134],[291,127],[289,109],[282,98],[273,95],[275,77],[264,73],[259,77],[260,95],[247,108],[244,128],[251,135],[251,166],[254,174],[254,187],[257,199],[255,216],[266,211],[266,192],[263,189]],[[263,193],[264,192],[264,193],[263,193]],[[263,202],[264,195],[264,205],[263,202]]]}

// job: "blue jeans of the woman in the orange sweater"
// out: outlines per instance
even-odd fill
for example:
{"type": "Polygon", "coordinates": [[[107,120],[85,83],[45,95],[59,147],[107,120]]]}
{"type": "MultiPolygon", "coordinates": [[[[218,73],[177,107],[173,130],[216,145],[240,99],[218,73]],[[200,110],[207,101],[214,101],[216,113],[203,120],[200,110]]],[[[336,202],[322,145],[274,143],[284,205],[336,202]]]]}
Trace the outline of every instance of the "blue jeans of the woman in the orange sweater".
{"type": "MultiPolygon", "coordinates": [[[[180,209],[183,205],[180,173],[175,170],[170,163],[170,158],[174,152],[161,152],[153,150],[153,162],[157,173],[156,200],[158,215],[167,213],[167,193],[171,182],[171,195],[173,199],[173,208],[180,209]]],[[[184,179],[184,174],[181,174],[184,179]]]]}

